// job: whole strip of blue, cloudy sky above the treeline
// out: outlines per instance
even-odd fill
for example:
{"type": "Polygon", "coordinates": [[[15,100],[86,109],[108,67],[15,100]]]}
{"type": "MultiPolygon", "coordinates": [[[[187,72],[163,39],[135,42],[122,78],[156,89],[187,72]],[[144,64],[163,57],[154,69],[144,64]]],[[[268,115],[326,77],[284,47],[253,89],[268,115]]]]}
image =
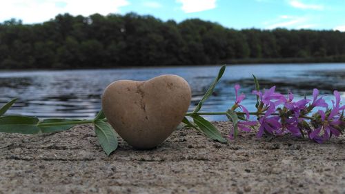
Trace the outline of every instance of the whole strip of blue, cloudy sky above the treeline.
{"type": "Polygon", "coordinates": [[[0,22],[41,23],[57,14],[150,14],[177,22],[199,18],[227,28],[345,32],[345,0],[0,0],[0,22]]]}

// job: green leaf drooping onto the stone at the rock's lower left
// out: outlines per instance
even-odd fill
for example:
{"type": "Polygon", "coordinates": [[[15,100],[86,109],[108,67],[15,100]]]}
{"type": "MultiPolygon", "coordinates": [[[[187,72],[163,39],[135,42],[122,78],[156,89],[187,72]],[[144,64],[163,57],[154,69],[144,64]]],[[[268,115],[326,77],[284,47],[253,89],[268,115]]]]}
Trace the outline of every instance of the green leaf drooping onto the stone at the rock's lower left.
{"type": "Polygon", "coordinates": [[[117,148],[117,134],[110,124],[102,120],[95,121],[95,132],[103,151],[110,155],[117,148]]]}

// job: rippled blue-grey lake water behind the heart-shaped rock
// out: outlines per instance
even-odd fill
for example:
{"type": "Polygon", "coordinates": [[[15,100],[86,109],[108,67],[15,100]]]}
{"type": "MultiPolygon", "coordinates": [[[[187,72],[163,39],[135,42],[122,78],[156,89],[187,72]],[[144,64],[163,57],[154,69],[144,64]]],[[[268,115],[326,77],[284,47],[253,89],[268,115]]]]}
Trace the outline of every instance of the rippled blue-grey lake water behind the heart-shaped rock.
{"type": "MultiPolygon", "coordinates": [[[[101,107],[103,89],[119,79],[146,80],[163,74],[184,77],[193,90],[190,110],[213,81],[220,66],[188,66],[164,68],[121,68],[102,70],[35,70],[1,71],[0,104],[17,97],[19,100],[8,114],[37,117],[75,117],[88,119],[101,107]]],[[[345,64],[255,64],[227,66],[215,93],[204,104],[202,111],[225,111],[233,105],[234,84],[242,86],[247,95],[243,104],[255,110],[252,74],[261,88],[277,86],[281,93],[291,90],[295,97],[311,96],[313,88],[331,103],[333,90],[345,97],[345,64]]],[[[210,120],[226,120],[210,116],[210,120]]]]}

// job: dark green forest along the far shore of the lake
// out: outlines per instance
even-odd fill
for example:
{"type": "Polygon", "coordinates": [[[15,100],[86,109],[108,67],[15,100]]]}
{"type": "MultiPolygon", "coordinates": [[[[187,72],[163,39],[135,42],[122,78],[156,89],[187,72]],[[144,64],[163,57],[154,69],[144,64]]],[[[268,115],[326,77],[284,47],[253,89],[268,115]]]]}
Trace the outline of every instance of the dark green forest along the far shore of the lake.
{"type": "Polygon", "coordinates": [[[225,28],[149,15],[59,14],[0,23],[0,69],[345,62],[345,32],[225,28]]]}

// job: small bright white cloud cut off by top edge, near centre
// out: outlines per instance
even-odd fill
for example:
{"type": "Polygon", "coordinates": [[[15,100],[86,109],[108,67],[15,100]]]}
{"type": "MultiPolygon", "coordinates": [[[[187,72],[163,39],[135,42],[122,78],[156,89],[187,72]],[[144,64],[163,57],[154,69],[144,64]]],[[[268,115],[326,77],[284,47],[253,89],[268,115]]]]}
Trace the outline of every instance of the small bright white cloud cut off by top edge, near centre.
{"type": "Polygon", "coordinates": [[[177,0],[182,3],[182,10],[186,13],[202,12],[216,7],[216,0],[177,0]]]}

